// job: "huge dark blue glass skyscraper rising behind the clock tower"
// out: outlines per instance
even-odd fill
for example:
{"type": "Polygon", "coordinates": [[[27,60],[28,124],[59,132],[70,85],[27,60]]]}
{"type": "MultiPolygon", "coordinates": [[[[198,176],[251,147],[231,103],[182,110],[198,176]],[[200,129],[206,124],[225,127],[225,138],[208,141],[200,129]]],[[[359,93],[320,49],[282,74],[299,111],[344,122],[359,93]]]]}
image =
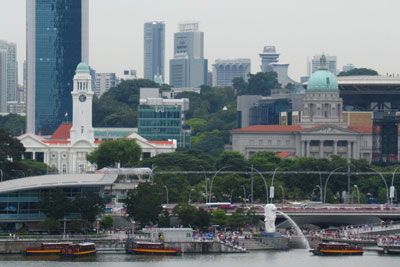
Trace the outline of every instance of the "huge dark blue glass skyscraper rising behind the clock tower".
{"type": "Polygon", "coordinates": [[[27,131],[72,118],[75,68],[88,63],[89,0],[27,0],[27,131]]]}

